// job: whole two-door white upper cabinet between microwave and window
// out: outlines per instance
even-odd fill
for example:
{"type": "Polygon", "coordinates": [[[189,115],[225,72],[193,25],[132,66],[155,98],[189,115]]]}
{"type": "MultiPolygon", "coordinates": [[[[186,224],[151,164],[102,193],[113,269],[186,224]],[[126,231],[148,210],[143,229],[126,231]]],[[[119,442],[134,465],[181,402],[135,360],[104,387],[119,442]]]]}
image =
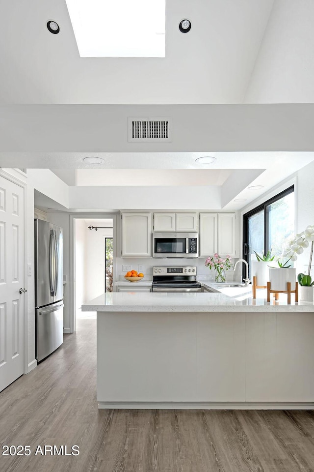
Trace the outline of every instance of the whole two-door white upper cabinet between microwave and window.
{"type": "Polygon", "coordinates": [[[200,257],[238,257],[235,213],[200,213],[200,257]]]}

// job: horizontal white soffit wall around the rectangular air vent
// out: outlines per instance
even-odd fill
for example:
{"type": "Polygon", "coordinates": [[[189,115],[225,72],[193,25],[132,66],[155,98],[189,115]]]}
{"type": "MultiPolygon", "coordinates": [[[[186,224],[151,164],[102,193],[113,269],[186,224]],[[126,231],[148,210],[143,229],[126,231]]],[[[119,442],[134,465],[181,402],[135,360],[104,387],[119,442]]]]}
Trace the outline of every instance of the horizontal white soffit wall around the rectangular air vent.
{"type": "Polygon", "coordinates": [[[3,106],[0,166],[71,168],[79,158],[79,168],[85,152],[313,151],[313,121],[313,103],[3,106]],[[128,117],[160,116],[172,117],[172,142],[128,143],[128,117]]]}

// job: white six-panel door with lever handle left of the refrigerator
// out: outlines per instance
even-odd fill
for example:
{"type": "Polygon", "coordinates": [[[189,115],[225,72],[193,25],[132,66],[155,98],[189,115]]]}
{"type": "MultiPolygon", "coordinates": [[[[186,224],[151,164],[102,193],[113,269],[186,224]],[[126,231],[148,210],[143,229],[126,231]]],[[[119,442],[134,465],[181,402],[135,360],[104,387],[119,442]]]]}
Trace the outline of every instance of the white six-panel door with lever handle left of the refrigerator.
{"type": "Polygon", "coordinates": [[[0,177],[0,391],[24,373],[24,190],[0,177]]]}

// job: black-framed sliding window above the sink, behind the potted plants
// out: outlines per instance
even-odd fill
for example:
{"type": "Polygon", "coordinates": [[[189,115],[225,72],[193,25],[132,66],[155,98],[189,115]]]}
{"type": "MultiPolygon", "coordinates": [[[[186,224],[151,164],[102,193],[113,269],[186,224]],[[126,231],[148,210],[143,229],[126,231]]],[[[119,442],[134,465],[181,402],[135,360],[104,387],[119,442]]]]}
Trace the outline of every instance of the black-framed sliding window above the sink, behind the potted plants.
{"type": "Polygon", "coordinates": [[[243,259],[256,261],[254,251],[279,256],[294,235],[294,187],[243,215],[243,259]]]}

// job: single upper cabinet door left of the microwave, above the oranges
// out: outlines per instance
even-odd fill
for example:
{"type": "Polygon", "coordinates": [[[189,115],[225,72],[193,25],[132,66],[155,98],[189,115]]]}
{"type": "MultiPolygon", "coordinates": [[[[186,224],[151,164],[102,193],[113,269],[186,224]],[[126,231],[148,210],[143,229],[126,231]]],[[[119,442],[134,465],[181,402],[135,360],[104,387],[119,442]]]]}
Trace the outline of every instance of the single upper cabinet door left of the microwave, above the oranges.
{"type": "Polygon", "coordinates": [[[122,213],[122,257],[151,257],[151,213],[122,213]]]}

